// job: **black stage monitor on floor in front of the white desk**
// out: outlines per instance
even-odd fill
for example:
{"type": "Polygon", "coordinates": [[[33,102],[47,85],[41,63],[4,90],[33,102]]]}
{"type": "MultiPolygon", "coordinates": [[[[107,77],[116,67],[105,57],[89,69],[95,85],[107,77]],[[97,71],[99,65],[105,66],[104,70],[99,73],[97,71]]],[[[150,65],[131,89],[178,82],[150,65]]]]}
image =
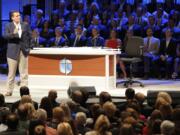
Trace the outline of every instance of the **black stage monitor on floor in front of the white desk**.
{"type": "Polygon", "coordinates": [[[94,86],[70,86],[67,91],[69,97],[71,97],[72,92],[76,90],[87,92],[89,97],[96,96],[96,89],[94,86]]]}

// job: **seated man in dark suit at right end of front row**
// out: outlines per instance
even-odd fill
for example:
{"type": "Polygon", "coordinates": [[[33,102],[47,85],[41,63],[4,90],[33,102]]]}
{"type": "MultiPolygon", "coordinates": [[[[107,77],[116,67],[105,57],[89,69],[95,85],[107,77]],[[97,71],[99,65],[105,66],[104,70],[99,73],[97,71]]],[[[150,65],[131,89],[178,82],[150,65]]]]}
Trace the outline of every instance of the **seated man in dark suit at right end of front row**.
{"type": "Polygon", "coordinates": [[[165,67],[166,79],[171,77],[173,61],[176,57],[176,40],[172,38],[172,34],[173,32],[171,29],[166,30],[165,39],[162,39],[159,51],[159,68],[157,69],[165,67]]]}

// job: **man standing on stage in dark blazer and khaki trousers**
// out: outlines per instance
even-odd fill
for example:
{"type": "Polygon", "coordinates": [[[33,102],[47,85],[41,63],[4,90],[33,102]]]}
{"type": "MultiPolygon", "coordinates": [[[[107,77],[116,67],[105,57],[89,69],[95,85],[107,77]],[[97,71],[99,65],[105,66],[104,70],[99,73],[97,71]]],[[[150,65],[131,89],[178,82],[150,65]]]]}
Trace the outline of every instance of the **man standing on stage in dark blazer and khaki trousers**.
{"type": "Polygon", "coordinates": [[[31,30],[27,23],[20,22],[19,11],[11,12],[12,22],[5,27],[5,38],[8,40],[7,63],[8,79],[5,96],[11,96],[14,80],[19,67],[21,86],[28,85],[28,54],[31,48],[31,30]]]}

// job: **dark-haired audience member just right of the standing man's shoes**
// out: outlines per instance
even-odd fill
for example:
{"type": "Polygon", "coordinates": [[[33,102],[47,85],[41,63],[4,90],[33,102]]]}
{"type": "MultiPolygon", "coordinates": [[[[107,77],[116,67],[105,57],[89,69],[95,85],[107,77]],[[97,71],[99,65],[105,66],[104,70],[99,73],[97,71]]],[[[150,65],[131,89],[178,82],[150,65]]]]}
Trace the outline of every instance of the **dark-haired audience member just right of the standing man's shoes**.
{"type": "MultiPolygon", "coordinates": [[[[20,91],[20,96],[21,96],[21,98],[22,98],[24,95],[29,95],[29,96],[30,96],[29,88],[26,87],[26,86],[22,86],[19,91],[20,91]]],[[[12,108],[11,108],[11,111],[12,111],[12,112],[15,112],[15,111],[16,111],[16,109],[18,108],[18,106],[19,106],[19,104],[20,104],[20,101],[21,101],[21,100],[18,100],[18,101],[14,102],[14,103],[12,104],[12,108]]],[[[34,108],[37,110],[37,109],[38,109],[38,103],[35,102],[35,101],[32,101],[32,103],[33,103],[34,108]]]]}

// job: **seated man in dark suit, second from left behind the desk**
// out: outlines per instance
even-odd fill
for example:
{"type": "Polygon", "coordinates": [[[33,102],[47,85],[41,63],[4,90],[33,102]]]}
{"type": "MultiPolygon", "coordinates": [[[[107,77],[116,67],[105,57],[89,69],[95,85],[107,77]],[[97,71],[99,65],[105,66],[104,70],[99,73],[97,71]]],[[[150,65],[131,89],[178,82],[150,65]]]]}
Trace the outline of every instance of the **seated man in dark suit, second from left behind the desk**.
{"type": "Polygon", "coordinates": [[[49,40],[48,47],[63,47],[66,45],[66,39],[62,36],[62,32],[61,27],[56,27],[55,37],[49,40]]]}

